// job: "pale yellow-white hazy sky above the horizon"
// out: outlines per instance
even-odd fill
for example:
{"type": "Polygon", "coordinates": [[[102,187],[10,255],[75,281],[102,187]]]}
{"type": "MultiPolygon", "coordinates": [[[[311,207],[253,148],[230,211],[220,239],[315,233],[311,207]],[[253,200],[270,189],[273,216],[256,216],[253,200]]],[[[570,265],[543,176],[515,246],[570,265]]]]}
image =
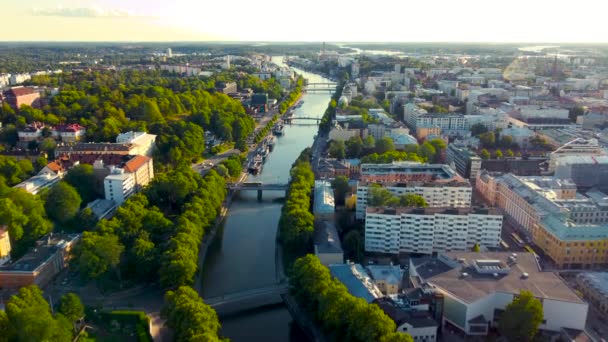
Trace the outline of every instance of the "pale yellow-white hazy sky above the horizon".
{"type": "Polygon", "coordinates": [[[0,0],[0,41],[608,42],[603,0],[0,0]]]}

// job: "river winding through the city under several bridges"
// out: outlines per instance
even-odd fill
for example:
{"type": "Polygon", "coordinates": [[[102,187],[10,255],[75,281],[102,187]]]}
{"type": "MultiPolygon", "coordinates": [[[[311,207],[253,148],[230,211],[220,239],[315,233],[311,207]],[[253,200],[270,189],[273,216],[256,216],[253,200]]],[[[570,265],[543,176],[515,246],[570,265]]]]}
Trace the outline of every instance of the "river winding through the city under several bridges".
{"type": "MultiPolygon", "coordinates": [[[[286,66],[282,56],[273,62],[286,66]]],[[[309,82],[331,82],[316,74],[294,69],[309,82]]],[[[321,117],[331,99],[329,93],[304,94],[295,116],[321,117]]],[[[306,121],[304,121],[306,122],[306,121]]],[[[312,145],[316,125],[287,125],[278,137],[263,172],[249,181],[286,183],[289,169],[300,152],[312,145]]],[[[211,244],[203,267],[203,297],[215,297],[272,285],[276,282],[276,234],[282,204],[281,192],[244,192],[232,203],[221,230],[211,244]]],[[[283,305],[248,311],[222,320],[222,335],[232,341],[306,341],[283,305]]]]}

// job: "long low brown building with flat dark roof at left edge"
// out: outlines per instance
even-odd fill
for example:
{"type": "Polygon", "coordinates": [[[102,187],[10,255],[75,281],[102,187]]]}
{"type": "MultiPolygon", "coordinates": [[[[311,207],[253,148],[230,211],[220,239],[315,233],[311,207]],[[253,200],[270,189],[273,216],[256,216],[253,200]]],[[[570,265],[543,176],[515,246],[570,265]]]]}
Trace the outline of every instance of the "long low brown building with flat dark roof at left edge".
{"type": "Polygon", "coordinates": [[[3,289],[24,286],[46,286],[67,267],[70,251],[80,234],[48,235],[36,242],[36,247],[14,263],[0,267],[0,284],[3,289]]]}

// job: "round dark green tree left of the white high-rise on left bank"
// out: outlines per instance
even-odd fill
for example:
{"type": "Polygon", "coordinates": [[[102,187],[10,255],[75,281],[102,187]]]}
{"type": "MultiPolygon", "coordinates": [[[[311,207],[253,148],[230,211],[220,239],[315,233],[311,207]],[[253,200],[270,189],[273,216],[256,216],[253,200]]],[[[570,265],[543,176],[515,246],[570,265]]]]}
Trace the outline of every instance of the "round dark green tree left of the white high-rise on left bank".
{"type": "Polygon", "coordinates": [[[44,197],[47,215],[51,220],[61,224],[76,216],[82,203],[76,189],[64,181],[53,186],[44,197]]]}

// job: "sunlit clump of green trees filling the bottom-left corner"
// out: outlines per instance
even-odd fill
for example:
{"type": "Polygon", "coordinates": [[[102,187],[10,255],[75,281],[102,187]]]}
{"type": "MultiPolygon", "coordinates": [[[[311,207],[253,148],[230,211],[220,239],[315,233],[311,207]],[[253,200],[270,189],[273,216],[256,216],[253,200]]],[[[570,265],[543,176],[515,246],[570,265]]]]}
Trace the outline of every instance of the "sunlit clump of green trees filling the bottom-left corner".
{"type": "Polygon", "coordinates": [[[53,313],[37,286],[22,287],[0,311],[0,340],[71,342],[74,323],[83,317],[84,307],[75,294],[61,297],[53,313]]]}

